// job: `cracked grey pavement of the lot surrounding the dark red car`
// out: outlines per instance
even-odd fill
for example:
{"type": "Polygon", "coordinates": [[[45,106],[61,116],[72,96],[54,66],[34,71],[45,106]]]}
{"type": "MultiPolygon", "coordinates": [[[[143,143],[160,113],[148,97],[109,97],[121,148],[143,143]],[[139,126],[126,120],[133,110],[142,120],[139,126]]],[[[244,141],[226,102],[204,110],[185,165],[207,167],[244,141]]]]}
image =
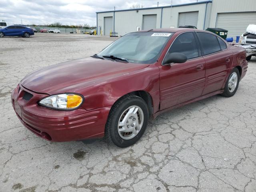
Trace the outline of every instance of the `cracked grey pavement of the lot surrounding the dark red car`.
{"type": "Polygon", "coordinates": [[[214,96],[151,121],[137,144],[54,143],[22,126],[10,102],[33,70],[90,56],[113,38],[0,39],[0,192],[255,192],[256,58],[232,98],[214,96]]]}

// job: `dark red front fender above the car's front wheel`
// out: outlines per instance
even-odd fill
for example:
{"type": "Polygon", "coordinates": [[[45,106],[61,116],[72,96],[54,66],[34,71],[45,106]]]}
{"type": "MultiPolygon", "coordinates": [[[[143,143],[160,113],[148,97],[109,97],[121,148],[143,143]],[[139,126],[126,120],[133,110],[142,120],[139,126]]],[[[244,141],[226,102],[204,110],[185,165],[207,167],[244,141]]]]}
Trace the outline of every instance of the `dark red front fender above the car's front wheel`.
{"type": "Polygon", "coordinates": [[[138,90],[143,90],[153,95],[153,103],[156,103],[157,99],[154,100],[154,98],[159,95],[159,78],[159,68],[152,64],[146,68],[128,72],[107,81],[103,80],[101,83],[90,86],[83,91],[84,103],[82,107],[86,110],[109,107],[122,96],[138,90]]]}

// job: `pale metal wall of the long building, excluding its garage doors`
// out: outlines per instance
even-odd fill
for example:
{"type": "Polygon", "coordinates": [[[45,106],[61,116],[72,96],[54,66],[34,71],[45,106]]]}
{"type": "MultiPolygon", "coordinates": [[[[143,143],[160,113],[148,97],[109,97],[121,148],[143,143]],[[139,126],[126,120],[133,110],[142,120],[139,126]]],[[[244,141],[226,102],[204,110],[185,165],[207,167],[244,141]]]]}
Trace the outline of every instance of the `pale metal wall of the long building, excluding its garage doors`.
{"type": "MultiPolygon", "coordinates": [[[[156,28],[178,27],[179,13],[198,11],[198,29],[216,27],[217,14],[227,12],[255,12],[256,0],[213,0],[208,3],[198,3],[184,6],[159,7],[143,10],[125,10],[98,13],[99,26],[104,29],[104,17],[113,16],[113,30],[118,35],[125,35],[136,31],[140,26],[142,29],[143,15],[156,14],[156,28]],[[162,12],[162,15],[161,15],[162,12]],[[114,16],[115,15],[115,16],[114,16]],[[162,17],[162,23],[161,23],[162,17]]],[[[244,29],[246,30],[246,29],[244,29]]],[[[98,31],[97,34],[100,34],[98,31]]],[[[104,34],[104,32],[102,32],[104,34]]]]}

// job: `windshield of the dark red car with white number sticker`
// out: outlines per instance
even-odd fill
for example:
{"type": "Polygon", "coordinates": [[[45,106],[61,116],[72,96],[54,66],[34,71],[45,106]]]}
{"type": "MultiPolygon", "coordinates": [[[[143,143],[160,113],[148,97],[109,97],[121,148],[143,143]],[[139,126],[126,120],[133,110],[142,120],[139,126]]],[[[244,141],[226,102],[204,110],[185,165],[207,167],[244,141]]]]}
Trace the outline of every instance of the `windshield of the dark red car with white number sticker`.
{"type": "Polygon", "coordinates": [[[115,56],[132,63],[152,64],[156,62],[173,33],[135,32],[119,38],[98,56],[115,56]]]}

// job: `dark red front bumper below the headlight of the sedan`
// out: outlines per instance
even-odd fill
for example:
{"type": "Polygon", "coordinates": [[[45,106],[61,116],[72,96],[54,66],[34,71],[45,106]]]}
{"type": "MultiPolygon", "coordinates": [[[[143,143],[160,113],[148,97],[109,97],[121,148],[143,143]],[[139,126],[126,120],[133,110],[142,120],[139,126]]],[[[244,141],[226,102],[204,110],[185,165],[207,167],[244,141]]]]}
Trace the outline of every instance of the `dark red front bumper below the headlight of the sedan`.
{"type": "Polygon", "coordinates": [[[104,136],[110,107],[87,111],[80,107],[72,111],[58,111],[39,106],[46,94],[32,92],[22,85],[12,91],[12,106],[22,124],[37,136],[54,142],[84,140],[104,136]],[[24,94],[32,94],[24,100],[24,94]]]}

